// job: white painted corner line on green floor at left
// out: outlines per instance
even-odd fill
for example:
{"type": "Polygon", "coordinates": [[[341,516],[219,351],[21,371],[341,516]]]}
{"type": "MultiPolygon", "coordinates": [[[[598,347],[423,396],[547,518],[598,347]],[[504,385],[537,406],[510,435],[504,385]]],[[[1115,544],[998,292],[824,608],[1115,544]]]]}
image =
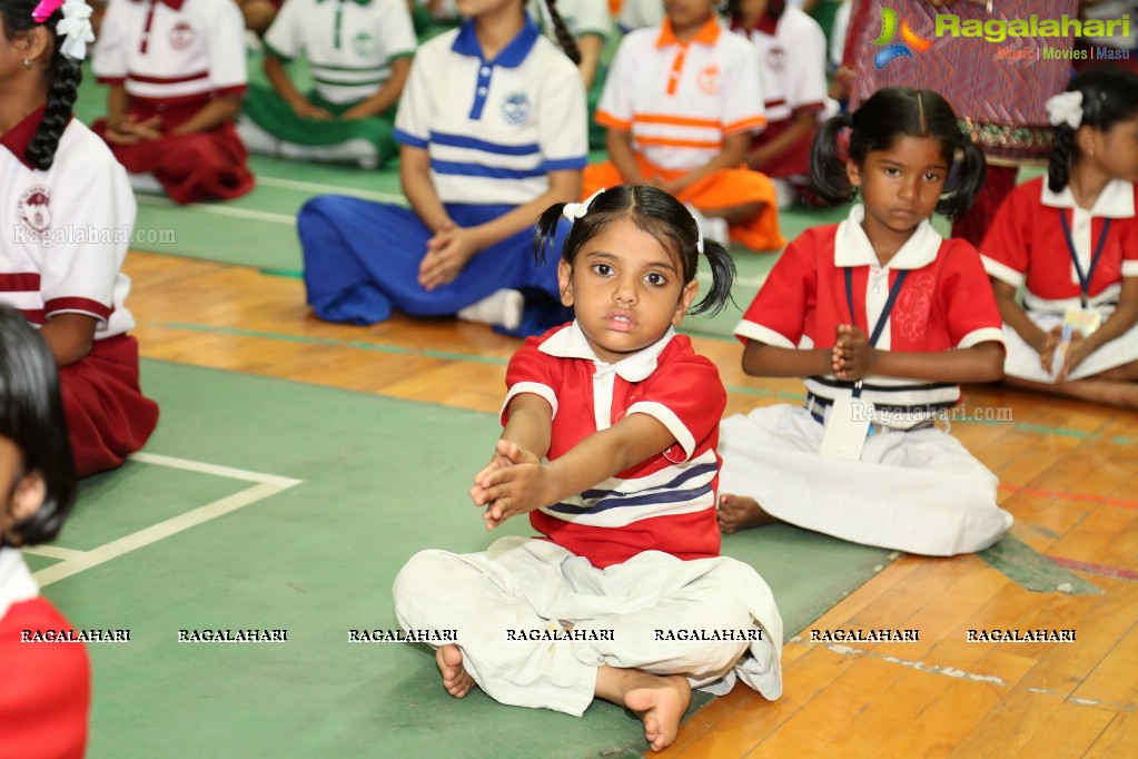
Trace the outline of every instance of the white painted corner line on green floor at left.
{"type": "Polygon", "coordinates": [[[304,481],[292,479],[291,477],[280,477],[278,475],[267,475],[265,472],[233,469],[232,467],[221,467],[218,464],[190,461],[188,459],[178,459],[174,456],[163,456],[154,453],[135,453],[131,456],[131,459],[141,463],[154,464],[156,467],[168,467],[171,469],[182,469],[201,475],[228,477],[230,479],[254,482],[254,485],[244,490],[239,490],[238,493],[233,493],[232,495],[218,498],[213,503],[207,503],[204,506],[198,506],[197,509],[172,517],[171,519],[158,522],[157,525],[151,525],[150,527],[131,533],[130,535],[112,541],[110,543],[105,543],[96,548],[91,548],[90,551],[73,551],[71,548],[53,545],[24,548],[24,551],[31,554],[61,560],[59,563],[46,567],[33,575],[40,587],[61,580],[65,577],[71,577],[72,575],[86,569],[91,569],[92,567],[98,567],[99,564],[110,561],[112,559],[117,559],[125,553],[150,545],[151,543],[167,538],[171,535],[176,535],[178,533],[188,530],[191,527],[197,527],[198,525],[228,514],[231,511],[237,511],[238,509],[248,506],[257,501],[263,501],[269,496],[287,490],[290,487],[295,487],[304,481]]]}

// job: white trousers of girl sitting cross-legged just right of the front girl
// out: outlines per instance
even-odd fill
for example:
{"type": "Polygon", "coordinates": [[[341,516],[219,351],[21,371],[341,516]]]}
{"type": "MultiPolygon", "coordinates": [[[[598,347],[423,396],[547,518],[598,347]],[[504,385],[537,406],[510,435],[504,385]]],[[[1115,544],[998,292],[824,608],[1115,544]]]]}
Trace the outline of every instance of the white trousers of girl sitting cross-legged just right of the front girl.
{"type": "Polygon", "coordinates": [[[859,461],[823,456],[824,428],[777,405],[719,426],[719,493],[843,541],[932,556],[981,551],[1012,526],[998,480],[935,428],[866,438],[859,461]]]}

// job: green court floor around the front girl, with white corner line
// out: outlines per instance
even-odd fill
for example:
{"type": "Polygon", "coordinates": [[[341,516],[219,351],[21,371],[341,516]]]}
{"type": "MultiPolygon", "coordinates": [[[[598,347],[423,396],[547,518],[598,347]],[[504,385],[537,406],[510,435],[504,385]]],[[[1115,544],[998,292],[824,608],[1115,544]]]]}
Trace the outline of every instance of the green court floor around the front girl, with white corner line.
{"type": "MultiPolygon", "coordinates": [[[[129,643],[88,647],[91,759],[645,750],[640,723],[611,704],[578,719],[480,692],[456,701],[426,647],[347,641],[396,626],[391,581],[414,552],[490,542],[465,493],[498,434],[494,415],[152,361],[142,383],[162,406],[145,460],[85,480],[34,568],[146,543],[160,531],[147,526],[179,514],[231,510],[44,587],[77,628],[131,630],[129,643]],[[287,629],[287,642],[178,642],[182,629],[247,628],[287,629]]],[[[725,552],[769,581],[787,636],[887,556],[789,527],[728,536],[725,552]]]]}

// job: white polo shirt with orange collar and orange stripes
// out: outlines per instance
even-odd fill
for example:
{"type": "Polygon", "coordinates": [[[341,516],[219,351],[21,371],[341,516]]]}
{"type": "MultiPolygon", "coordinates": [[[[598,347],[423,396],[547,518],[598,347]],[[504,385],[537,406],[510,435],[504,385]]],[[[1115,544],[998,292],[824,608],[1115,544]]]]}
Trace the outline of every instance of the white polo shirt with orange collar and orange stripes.
{"type": "Polygon", "coordinates": [[[633,148],[660,168],[691,171],[723,150],[724,138],[766,126],[757,48],[709,18],[681,43],[665,19],[620,42],[596,121],[630,131],[633,148]]]}

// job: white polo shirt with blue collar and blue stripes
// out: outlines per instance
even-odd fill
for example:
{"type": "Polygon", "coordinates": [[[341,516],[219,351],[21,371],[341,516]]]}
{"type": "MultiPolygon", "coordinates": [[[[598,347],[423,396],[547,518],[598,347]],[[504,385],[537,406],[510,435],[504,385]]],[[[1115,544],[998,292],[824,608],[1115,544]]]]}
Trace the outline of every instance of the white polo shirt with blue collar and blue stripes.
{"type": "Polygon", "coordinates": [[[577,67],[531,20],[492,61],[468,20],[419,48],[395,138],[428,151],[443,203],[521,205],[585,167],[587,119],[577,67]]]}

